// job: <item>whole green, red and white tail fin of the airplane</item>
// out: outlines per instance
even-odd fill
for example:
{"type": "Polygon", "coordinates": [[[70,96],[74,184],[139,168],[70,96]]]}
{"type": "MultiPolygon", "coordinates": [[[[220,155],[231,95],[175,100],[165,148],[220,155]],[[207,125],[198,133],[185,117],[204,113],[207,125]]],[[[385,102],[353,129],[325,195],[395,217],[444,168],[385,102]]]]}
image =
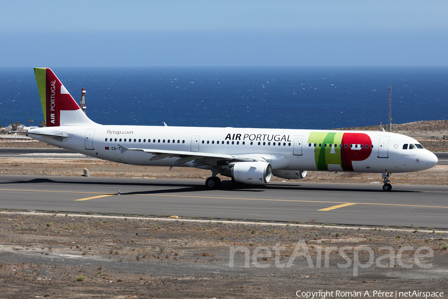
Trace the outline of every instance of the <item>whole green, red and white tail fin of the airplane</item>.
{"type": "Polygon", "coordinates": [[[96,125],[49,68],[34,68],[47,127],[96,125]]]}

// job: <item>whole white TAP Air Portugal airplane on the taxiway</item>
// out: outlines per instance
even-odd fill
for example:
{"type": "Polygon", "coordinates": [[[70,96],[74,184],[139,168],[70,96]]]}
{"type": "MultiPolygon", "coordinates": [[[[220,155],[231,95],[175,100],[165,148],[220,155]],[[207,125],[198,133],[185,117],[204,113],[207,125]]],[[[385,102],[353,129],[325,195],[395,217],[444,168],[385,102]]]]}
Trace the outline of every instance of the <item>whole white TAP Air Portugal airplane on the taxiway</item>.
{"type": "MultiPolygon", "coordinates": [[[[335,131],[100,125],[90,120],[49,68],[34,68],[46,127],[26,134],[47,144],[119,163],[197,167],[234,184],[264,185],[271,176],[302,179],[307,171],[391,173],[429,169],[437,156],[408,136],[335,131]]],[[[170,168],[171,169],[171,168],[170,168]]]]}

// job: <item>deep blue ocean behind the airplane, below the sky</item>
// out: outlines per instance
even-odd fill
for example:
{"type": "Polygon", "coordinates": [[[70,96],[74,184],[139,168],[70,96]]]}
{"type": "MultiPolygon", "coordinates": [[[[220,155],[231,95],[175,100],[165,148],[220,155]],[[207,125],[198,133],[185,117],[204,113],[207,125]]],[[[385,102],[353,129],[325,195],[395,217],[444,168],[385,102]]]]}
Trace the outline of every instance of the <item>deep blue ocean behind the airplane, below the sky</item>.
{"type": "MultiPolygon", "coordinates": [[[[52,68],[104,125],[334,129],[448,119],[448,67],[52,68]]],[[[0,125],[43,121],[33,68],[0,68],[0,125]]]]}

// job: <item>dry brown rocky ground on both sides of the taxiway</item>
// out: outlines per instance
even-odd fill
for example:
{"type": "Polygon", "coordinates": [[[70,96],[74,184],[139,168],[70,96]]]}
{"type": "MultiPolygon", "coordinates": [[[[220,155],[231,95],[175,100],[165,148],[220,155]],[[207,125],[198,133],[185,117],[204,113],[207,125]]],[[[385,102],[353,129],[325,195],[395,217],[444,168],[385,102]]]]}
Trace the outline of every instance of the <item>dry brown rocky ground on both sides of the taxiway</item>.
{"type": "MultiPolygon", "coordinates": [[[[447,121],[441,122],[437,126],[447,121]]],[[[427,149],[446,151],[448,130],[437,130],[405,134],[419,137],[427,149]]],[[[0,147],[45,146],[0,142],[0,147]]],[[[16,174],[81,175],[85,167],[93,176],[210,175],[97,159],[0,163],[0,173],[16,174]]],[[[447,184],[447,172],[438,165],[391,179],[447,184]]],[[[305,180],[379,183],[381,176],[309,172],[305,180]]],[[[306,298],[302,292],[320,290],[333,292],[326,298],[448,295],[446,230],[167,216],[0,211],[0,298],[306,298]],[[425,293],[395,294],[413,291],[425,293]]]]}

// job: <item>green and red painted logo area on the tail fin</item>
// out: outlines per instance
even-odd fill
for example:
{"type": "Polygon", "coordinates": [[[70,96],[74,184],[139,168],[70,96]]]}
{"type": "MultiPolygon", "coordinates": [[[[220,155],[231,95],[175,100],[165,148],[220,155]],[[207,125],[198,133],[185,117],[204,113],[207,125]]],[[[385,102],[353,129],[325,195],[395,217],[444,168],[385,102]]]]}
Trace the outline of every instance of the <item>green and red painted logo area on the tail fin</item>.
{"type": "Polygon", "coordinates": [[[34,68],[40,102],[47,127],[61,125],[61,111],[80,109],[73,97],[49,68],[34,68]]]}

